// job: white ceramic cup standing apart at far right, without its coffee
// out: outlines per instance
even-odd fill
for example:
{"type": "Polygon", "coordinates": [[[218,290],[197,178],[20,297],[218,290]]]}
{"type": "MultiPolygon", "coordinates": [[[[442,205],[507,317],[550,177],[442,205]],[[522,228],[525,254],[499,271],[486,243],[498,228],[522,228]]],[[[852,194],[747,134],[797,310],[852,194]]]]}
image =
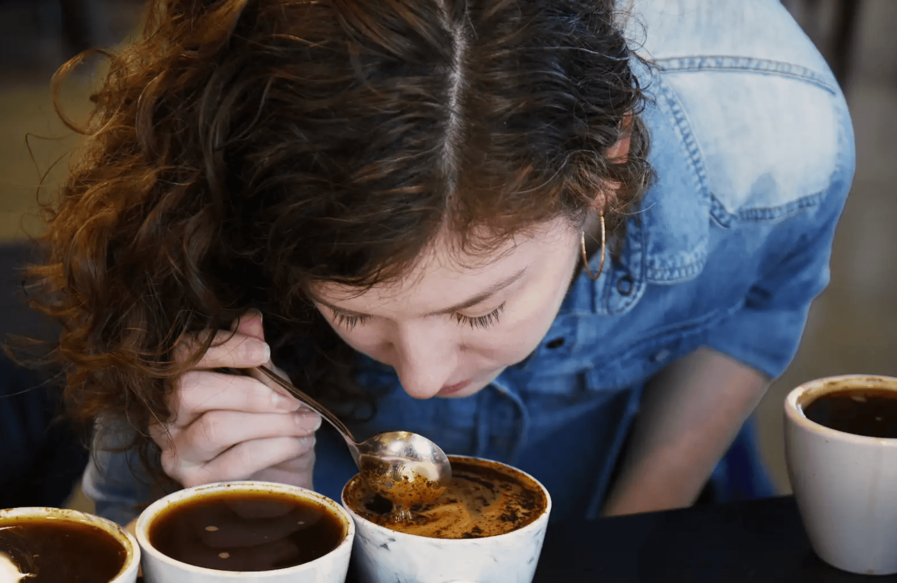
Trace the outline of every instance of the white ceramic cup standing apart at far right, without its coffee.
{"type": "Polygon", "coordinates": [[[897,439],[836,431],[803,412],[814,399],[851,387],[897,396],[897,379],[845,375],[811,380],[786,397],[791,488],[823,561],[853,573],[897,573],[897,439]]]}

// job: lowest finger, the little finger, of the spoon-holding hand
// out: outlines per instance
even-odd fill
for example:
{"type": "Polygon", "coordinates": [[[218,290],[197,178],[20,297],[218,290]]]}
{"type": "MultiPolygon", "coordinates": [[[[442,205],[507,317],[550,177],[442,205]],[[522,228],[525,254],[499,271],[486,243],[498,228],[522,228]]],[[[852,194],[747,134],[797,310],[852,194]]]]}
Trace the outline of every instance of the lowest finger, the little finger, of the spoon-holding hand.
{"type": "Polygon", "coordinates": [[[314,452],[315,438],[278,437],[243,441],[212,461],[201,465],[184,465],[172,475],[185,487],[204,483],[246,480],[250,475],[276,466],[293,457],[314,452]]]}

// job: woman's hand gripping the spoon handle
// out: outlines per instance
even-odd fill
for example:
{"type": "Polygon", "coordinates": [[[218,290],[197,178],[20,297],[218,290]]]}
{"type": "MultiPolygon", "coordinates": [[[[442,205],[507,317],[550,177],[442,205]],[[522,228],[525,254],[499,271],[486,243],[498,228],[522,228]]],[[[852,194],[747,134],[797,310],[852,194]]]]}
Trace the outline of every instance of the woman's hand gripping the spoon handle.
{"type": "Polygon", "coordinates": [[[185,487],[228,480],[266,480],[311,488],[318,413],[250,377],[215,372],[270,361],[262,317],[250,311],[233,332],[180,376],[170,396],[174,418],[150,428],[166,474],[185,487]]]}

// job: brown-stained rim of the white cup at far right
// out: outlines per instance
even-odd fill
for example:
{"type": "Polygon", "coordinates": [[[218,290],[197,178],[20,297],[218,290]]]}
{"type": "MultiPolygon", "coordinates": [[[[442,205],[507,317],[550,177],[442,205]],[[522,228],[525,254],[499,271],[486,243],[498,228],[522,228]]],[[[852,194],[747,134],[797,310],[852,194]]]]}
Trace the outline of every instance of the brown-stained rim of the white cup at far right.
{"type": "Polygon", "coordinates": [[[866,374],[848,374],[837,375],[833,377],[823,377],[821,379],[808,380],[788,392],[785,397],[785,415],[786,418],[806,431],[822,434],[831,439],[839,439],[849,443],[857,443],[861,445],[875,444],[890,448],[897,448],[897,438],[877,438],[868,435],[857,435],[856,433],[848,433],[847,431],[839,431],[827,427],[822,423],[811,421],[804,414],[803,406],[808,405],[814,399],[833,393],[847,384],[856,386],[858,383],[867,383],[869,388],[883,388],[893,390],[897,393],[897,378],[886,377],[884,375],[866,375],[866,374]]]}

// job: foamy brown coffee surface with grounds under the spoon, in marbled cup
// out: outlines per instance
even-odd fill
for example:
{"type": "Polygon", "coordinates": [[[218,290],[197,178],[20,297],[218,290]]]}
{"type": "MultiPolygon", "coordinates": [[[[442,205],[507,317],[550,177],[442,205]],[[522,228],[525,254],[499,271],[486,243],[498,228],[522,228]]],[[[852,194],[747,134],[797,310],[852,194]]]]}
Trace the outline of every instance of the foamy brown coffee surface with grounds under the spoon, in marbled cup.
{"type": "Polygon", "coordinates": [[[503,535],[544,513],[548,500],[526,475],[485,460],[448,460],[451,484],[437,500],[411,507],[410,520],[396,521],[392,502],[370,492],[359,476],[346,484],[346,504],[380,526],[433,538],[503,535]]]}

